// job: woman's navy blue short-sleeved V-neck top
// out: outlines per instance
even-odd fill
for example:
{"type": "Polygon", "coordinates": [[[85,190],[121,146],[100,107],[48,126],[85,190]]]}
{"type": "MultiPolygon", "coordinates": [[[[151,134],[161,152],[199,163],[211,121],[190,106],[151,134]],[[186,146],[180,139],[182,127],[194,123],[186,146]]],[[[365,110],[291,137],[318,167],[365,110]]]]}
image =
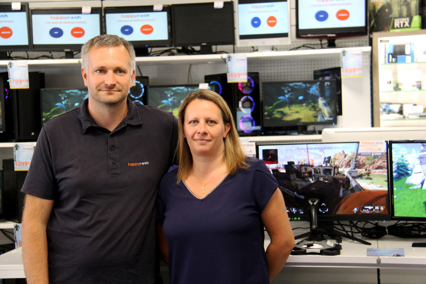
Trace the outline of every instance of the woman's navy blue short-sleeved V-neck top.
{"type": "Polygon", "coordinates": [[[263,161],[198,198],[177,171],[163,177],[156,218],[169,246],[171,284],[269,283],[260,214],[278,184],[263,161]]]}

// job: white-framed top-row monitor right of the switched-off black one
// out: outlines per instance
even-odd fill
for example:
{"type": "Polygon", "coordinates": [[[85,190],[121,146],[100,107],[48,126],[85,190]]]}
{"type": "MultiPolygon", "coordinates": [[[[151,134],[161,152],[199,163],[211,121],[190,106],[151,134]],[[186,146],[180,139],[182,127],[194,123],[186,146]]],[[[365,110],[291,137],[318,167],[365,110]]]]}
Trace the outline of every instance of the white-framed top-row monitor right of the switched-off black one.
{"type": "Polygon", "coordinates": [[[236,0],[236,46],[290,44],[290,3],[287,0],[236,0]]]}

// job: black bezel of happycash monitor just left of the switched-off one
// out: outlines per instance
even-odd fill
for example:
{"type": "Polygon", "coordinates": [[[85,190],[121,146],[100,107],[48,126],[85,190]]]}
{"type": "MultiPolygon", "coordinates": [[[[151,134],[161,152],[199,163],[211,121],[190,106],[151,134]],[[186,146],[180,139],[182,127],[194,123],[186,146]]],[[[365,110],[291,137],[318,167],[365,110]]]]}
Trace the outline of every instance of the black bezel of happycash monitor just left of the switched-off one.
{"type": "MultiPolygon", "coordinates": [[[[167,12],[167,25],[168,25],[168,39],[167,40],[130,40],[129,42],[135,48],[145,47],[170,47],[172,46],[172,32],[171,32],[171,16],[170,16],[170,5],[163,5],[161,11],[154,11],[154,6],[116,6],[116,7],[104,7],[103,8],[103,33],[107,34],[107,14],[114,13],[156,13],[156,12],[167,12]]],[[[120,36],[118,34],[118,36],[120,36]]]]}

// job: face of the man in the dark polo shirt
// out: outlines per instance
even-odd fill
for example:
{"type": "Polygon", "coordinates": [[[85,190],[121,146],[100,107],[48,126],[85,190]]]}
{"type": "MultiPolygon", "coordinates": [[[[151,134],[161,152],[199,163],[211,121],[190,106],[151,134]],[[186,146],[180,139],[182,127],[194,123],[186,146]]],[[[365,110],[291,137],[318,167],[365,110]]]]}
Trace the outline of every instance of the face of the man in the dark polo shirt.
{"type": "Polygon", "coordinates": [[[81,70],[89,89],[89,102],[115,105],[124,101],[135,78],[130,55],[124,46],[92,47],[87,70],[81,70]]]}

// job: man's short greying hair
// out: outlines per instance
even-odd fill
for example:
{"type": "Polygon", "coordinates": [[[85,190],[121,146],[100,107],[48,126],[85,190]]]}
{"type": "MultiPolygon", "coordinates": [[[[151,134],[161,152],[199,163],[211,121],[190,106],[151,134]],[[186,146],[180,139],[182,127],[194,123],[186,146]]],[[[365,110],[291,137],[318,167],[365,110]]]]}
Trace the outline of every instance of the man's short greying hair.
{"type": "Polygon", "coordinates": [[[88,55],[89,51],[92,47],[108,47],[108,46],[124,46],[124,48],[129,52],[130,55],[130,68],[131,72],[136,69],[136,62],[135,62],[135,49],[133,48],[132,44],[125,40],[122,37],[119,37],[114,34],[102,34],[98,35],[96,37],[93,37],[84,45],[81,47],[81,67],[85,70],[87,70],[87,64],[88,64],[88,55]]]}

